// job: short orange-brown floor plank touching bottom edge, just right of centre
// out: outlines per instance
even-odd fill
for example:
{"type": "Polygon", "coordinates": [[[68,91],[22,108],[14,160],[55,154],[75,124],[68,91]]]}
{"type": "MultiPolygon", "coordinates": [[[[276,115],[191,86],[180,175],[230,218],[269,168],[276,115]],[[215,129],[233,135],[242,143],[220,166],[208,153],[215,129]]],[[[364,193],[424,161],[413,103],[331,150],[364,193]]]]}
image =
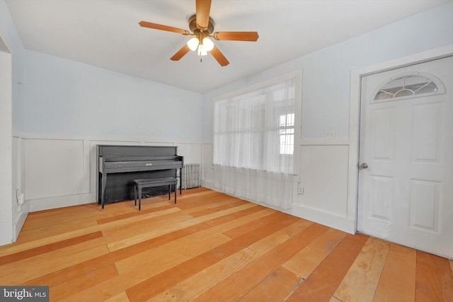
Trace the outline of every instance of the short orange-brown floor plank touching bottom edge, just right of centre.
{"type": "Polygon", "coordinates": [[[304,280],[297,277],[293,272],[289,272],[285,267],[277,267],[274,272],[240,298],[239,301],[285,301],[288,294],[292,293],[301,281],[304,280]]]}

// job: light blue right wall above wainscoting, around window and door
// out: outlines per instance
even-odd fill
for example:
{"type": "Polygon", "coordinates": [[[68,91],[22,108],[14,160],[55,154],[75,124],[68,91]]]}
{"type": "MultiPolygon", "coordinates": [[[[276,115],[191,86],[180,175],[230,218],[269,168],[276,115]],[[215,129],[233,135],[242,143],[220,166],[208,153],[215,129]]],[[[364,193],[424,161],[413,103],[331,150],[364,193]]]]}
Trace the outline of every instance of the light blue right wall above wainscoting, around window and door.
{"type": "Polygon", "coordinates": [[[302,139],[348,137],[350,71],[453,43],[453,3],[307,54],[203,95],[203,141],[212,141],[212,98],[303,69],[302,139]]]}

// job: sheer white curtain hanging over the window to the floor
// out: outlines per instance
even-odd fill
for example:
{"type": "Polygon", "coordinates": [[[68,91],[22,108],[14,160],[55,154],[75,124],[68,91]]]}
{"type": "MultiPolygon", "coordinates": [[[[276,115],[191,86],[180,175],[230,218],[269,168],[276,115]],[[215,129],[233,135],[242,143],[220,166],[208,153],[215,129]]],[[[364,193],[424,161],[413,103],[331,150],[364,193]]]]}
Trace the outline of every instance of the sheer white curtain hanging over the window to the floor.
{"type": "Polygon", "coordinates": [[[295,79],[214,101],[214,187],[292,207],[295,79]]]}

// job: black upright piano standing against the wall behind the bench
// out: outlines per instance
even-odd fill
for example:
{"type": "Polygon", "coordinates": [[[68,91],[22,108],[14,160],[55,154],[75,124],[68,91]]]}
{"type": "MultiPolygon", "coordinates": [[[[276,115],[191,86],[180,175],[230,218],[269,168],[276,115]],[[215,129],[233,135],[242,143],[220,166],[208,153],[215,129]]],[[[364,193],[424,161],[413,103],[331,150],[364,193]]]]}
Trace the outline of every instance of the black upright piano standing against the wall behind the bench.
{"type": "MultiPolygon", "coordinates": [[[[132,180],[178,177],[184,166],[177,146],[97,145],[98,204],[134,199],[132,180]]],[[[166,188],[148,188],[143,194],[164,194],[166,188]],[[161,190],[161,191],[159,191],[161,190]]],[[[175,188],[176,194],[176,188],[175,188]]],[[[180,186],[181,194],[181,186],[180,186]]]]}

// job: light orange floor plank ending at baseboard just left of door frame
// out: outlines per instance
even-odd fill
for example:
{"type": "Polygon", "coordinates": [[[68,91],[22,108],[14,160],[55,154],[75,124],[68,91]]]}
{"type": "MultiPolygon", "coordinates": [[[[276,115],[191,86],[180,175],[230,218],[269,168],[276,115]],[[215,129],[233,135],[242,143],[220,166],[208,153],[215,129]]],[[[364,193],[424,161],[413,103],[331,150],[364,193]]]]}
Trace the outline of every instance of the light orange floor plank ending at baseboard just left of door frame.
{"type": "Polygon", "coordinates": [[[345,232],[330,229],[285,262],[282,267],[306,279],[345,236],[345,232]]]}

